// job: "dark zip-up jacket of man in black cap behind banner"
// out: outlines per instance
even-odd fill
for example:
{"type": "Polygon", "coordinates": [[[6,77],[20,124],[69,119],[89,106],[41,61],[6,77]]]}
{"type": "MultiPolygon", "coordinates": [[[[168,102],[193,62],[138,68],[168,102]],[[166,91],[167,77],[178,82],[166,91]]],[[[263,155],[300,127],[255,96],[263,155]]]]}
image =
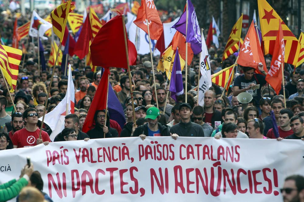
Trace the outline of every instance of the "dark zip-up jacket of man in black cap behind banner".
{"type": "Polygon", "coordinates": [[[188,123],[179,122],[170,128],[171,134],[178,134],[181,137],[204,137],[201,125],[189,121],[188,123]]]}

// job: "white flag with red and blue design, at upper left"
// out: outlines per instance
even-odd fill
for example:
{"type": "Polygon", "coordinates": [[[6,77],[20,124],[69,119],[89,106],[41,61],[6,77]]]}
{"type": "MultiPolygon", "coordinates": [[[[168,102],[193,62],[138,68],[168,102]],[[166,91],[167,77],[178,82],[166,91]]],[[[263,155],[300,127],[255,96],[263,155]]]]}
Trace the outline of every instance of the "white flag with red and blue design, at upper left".
{"type": "Polygon", "coordinates": [[[47,40],[47,37],[44,37],[43,35],[50,28],[52,28],[52,24],[40,18],[36,11],[33,11],[31,24],[29,26],[29,35],[37,37],[39,30],[39,37],[47,40]]]}

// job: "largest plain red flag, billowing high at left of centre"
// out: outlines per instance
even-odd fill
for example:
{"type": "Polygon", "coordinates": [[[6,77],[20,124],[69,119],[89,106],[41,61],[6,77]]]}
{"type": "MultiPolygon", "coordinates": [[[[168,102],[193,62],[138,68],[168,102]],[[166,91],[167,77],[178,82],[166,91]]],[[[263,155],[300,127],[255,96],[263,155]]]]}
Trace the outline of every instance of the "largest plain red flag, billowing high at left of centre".
{"type": "MultiPolygon", "coordinates": [[[[90,46],[93,65],[128,68],[123,28],[126,29],[122,15],[115,16],[100,28],[90,46]]],[[[129,39],[127,41],[129,64],[135,65],[137,51],[134,44],[129,39]]]]}

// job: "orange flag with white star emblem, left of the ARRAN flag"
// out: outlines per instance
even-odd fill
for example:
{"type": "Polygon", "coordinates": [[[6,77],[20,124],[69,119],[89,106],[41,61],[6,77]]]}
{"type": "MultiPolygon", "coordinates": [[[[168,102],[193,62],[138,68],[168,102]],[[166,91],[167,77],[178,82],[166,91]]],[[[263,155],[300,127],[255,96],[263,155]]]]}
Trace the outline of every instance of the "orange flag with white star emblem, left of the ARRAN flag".
{"type": "Polygon", "coordinates": [[[237,60],[237,64],[242,65],[244,67],[252,67],[258,71],[257,66],[260,62],[263,63],[264,70],[267,72],[260,41],[257,36],[256,29],[254,27],[254,22],[252,21],[248,29],[247,35],[244,39],[244,43],[240,48],[239,59],[237,60]]]}

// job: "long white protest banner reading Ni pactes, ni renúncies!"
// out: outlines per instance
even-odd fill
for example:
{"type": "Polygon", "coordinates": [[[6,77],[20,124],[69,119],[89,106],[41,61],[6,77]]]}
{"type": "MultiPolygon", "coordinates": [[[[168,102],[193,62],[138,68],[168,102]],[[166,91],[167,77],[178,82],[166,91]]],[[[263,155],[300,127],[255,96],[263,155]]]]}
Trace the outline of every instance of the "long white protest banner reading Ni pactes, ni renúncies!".
{"type": "Polygon", "coordinates": [[[26,157],[54,201],[282,201],[304,173],[304,141],[212,137],[107,138],[0,151],[0,184],[26,157]]]}

